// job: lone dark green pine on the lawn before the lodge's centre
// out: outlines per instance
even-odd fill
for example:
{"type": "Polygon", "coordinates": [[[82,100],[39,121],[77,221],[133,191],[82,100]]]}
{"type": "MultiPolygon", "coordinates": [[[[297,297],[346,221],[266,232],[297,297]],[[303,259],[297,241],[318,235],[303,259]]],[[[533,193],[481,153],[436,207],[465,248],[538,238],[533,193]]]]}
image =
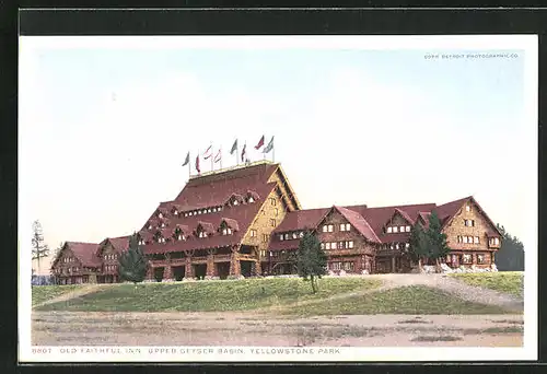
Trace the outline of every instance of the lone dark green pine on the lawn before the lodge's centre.
{"type": "Polygon", "coordinates": [[[298,273],[304,280],[311,280],[313,293],[317,292],[316,278],[327,273],[327,255],[321,248],[317,236],[310,231],[300,239],[296,253],[298,273]]]}

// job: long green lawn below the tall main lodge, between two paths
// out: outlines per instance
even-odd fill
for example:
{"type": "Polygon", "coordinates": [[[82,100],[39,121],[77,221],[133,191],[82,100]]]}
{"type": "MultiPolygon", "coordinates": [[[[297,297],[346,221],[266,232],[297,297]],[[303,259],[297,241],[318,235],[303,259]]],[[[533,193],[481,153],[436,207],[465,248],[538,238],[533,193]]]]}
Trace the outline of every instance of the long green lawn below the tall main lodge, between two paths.
{"type": "Polygon", "coordinates": [[[38,311],[96,312],[223,312],[248,311],[296,301],[324,299],[333,294],[371,289],[379,280],[323,278],[312,294],[310,282],[299,278],[246,279],[189,283],[113,284],[38,311]]]}

